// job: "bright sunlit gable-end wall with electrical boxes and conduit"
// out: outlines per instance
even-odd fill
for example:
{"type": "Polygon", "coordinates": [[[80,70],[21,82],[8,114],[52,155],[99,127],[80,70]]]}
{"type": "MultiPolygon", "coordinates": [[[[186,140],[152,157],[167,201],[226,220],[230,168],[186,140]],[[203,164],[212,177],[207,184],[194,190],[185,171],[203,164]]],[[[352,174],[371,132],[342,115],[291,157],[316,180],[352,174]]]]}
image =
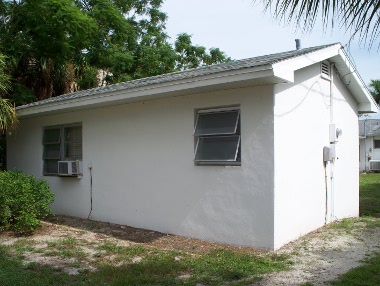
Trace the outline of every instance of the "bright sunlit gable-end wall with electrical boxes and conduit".
{"type": "Polygon", "coordinates": [[[299,70],[294,84],[275,87],[275,248],[325,223],[358,215],[357,104],[334,78],[333,122],[343,130],[336,144],[333,189],[323,147],[329,146],[330,81],[320,65],[299,70]]]}

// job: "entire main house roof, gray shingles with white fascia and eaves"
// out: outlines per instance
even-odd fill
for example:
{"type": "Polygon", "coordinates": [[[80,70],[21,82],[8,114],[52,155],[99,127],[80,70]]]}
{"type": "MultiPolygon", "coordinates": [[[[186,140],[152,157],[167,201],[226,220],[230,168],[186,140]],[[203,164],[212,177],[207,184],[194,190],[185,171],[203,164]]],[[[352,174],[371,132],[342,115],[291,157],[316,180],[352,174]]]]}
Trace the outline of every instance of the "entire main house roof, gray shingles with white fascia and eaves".
{"type": "Polygon", "coordinates": [[[359,111],[373,112],[376,103],[353,69],[351,61],[341,50],[343,48],[340,44],[331,44],[204,66],[64,94],[20,106],[17,112],[20,117],[33,116],[191,92],[293,82],[295,70],[330,58],[338,62],[338,71],[341,69],[343,74],[354,74],[351,92],[359,103],[359,111]]]}

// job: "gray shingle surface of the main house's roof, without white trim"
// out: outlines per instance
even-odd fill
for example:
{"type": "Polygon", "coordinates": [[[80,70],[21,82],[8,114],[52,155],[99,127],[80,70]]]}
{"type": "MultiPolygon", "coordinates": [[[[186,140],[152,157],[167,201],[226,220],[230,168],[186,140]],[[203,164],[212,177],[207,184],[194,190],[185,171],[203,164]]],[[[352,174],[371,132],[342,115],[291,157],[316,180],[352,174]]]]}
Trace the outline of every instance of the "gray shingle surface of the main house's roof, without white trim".
{"type": "Polygon", "coordinates": [[[300,49],[300,50],[282,52],[282,53],[277,53],[277,54],[270,54],[270,55],[265,55],[265,56],[260,56],[260,57],[249,58],[249,59],[236,60],[236,61],[231,61],[231,62],[222,63],[222,64],[215,64],[211,66],[203,66],[203,67],[190,69],[190,70],[173,72],[169,74],[163,74],[163,75],[158,75],[158,76],[153,76],[153,77],[148,77],[148,78],[132,80],[128,82],[122,82],[118,84],[102,86],[98,88],[92,88],[88,90],[82,90],[82,91],[63,94],[57,97],[52,97],[49,99],[22,105],[22,106],[17,107],[17,109],[24,109],[24,108],[28,108],[32,106],[45,105],[49,103],[55,103],[55,102],[60,102],[60,101],[65,101],[65,100],[70,100],[70,99],[75,99],[75,98],[90,97],[92,95],[108,93],[112,91],[132,89],[132,88],[143,87],[143,86],[148,86],[148,85],[153,85],[153,84],[160,84],[160,83],[165,83],[165,82],[170,82],[170,81],[175,81],[175,80],[194,78],[197,76],[211,75],[211,74],[219,73],[223,71],[232,71],[232,70],[258,67],[258,66],[273,65],[275,63],[278,63],[290,58],[294,58],[297,56],[305,55],[308,53],[312,53],[312,52],[315,52],[315,51],[318,51],[318,50],[321,50],[333,45],[336,45],[336,43],[318,46],[318,47],[311,47],[311,48],[305,48],[305,49],[300,49]]]}

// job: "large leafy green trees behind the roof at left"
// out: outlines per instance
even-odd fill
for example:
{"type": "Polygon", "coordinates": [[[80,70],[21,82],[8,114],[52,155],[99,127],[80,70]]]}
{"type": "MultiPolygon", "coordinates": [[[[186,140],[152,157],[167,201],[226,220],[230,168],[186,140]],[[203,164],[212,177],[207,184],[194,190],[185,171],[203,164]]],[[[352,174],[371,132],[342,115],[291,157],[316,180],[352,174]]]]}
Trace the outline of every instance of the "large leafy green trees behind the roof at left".
{"type": "Polygon", "coordinates": [[[228,60],[191,42],[202,52],[177,52],[163,0],[0,1],[0,52],[16,104],[228,60]]]}

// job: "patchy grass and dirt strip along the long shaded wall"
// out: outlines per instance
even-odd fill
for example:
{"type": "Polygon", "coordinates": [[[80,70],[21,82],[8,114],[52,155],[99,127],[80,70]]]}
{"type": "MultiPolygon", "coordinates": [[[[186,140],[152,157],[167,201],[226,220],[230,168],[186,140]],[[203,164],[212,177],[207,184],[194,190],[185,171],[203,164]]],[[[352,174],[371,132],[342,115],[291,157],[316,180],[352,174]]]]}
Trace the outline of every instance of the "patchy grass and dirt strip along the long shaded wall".
{"type": "Polygon", "coordinates": [[[51,218],[28,237],[3,233],[0,244],[2,286],[250,285],[291,263],[285,254],[72,217],[51,218]]]}

